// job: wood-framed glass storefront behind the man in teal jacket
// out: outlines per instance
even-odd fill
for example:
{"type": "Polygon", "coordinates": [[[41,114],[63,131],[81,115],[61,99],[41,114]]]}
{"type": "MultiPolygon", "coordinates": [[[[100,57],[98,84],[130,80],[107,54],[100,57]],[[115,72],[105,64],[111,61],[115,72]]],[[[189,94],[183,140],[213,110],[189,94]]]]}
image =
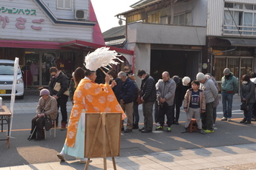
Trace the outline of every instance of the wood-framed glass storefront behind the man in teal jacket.
{"type": "Polygon", "coordinates": [[[230,41],[217,39],[219,38],[215,38],[215,41],[225,44],[224,47],[212,47],[211,53],[212,75],[219,86],[223,77],[223,69],[226,67],[233,72],[237,81],[240,81],[243,75],[255,72],[255,44],[232,44],[232,38],[229,38],[230,41]]]}

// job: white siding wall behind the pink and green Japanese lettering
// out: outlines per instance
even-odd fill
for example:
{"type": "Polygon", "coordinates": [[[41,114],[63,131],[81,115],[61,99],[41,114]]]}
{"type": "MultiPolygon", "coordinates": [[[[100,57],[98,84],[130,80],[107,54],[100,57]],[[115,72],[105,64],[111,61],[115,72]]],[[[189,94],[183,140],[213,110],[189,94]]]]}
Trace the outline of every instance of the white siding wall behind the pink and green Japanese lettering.
{"type": "Polygon", "coordinates": [[[27,41],[70,41],[79,39],[82,41],[92,41],[93,26],[77,25],[77,24],[55,24],[47,14],[42,11],[33,0],[16,0],[16,3],[10,0],[1,0],[1,7],[7,9],[16,8],[16,10],[36,10],[35,15],[26,15],[23,13],[3,13],[0,16],[7,17],[9,22],[3,27],[3,21],[0,23],[1,39],[10,40],[27,40],[27,41]],[[20,26],[24,29],[16,27],[17,18],[25,18],[26,21],[20,26]],[[33,23],[33,20],[43,19],[39,23],[33,23]],[[33,30],[31,26],[42,27],[42,30],[33,30]]]}

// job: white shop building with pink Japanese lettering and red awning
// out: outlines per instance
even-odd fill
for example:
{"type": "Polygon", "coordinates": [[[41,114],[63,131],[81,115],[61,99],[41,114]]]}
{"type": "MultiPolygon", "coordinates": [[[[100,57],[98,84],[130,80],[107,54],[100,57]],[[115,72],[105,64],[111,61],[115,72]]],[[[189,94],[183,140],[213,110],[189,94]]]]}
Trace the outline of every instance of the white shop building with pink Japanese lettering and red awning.
{"type": "MultiPolygon", "coordinates": [[[[0,26],[0,58],[19,58],[26,88],[47,86],[50,67],[71,75],[88,52],[105,47],[89,0],[2,0],[0,26]]],[[[111,50],[133,57],[129,50],[111,50]]]]}

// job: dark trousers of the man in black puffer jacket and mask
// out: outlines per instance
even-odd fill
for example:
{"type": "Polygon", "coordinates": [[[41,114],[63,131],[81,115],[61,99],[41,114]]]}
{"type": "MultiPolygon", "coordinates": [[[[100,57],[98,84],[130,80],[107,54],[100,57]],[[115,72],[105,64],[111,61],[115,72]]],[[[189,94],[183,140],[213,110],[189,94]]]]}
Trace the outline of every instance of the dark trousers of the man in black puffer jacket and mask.
{"type": "Polygon", "coordinates": [[[142,103],[142,111],[144,116],[144,127],[145,129],[153,129],[153,105],[154,101],[148,101],[142,103]]]}

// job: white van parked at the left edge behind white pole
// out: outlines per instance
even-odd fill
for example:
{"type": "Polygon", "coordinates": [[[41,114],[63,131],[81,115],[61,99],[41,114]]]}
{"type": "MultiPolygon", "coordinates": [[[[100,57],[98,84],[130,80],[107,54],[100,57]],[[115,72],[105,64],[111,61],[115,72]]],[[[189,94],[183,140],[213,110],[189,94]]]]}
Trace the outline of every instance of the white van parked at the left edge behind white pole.
{"type": "MultiPolygon", "coordinates": [[[[10,96],[13,86],[14,61],[0,60],[0,96],[10,96]]],[[[17,75],[16,96],[24,98],[24,83],[19,67],[17,75]]]]}

